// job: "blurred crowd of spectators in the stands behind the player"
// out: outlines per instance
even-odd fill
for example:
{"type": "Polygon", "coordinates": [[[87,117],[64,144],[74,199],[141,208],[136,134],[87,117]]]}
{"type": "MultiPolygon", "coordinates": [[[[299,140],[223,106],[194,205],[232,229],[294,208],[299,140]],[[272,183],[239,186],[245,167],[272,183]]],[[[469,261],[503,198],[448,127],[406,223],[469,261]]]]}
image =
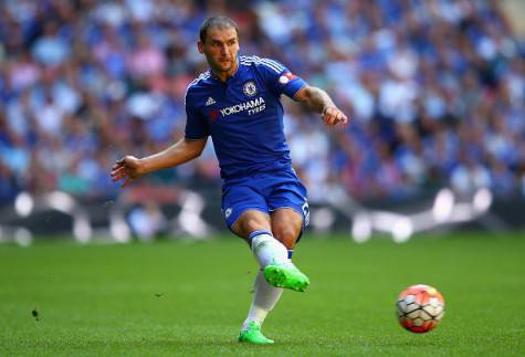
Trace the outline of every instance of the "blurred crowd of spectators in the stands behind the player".
{"type": "MultiPolygon", "coordinates": [[[[525,197],[525,42],[498,1],[4,0],[0,2],[0,202],[21,190],[112,197],[124,154],[183,135],[209,14],[241,53],[284,63],[351,117],[325,128],[285,101],[294,166],[322,198],[405,199],[449,186],[525,197]]],[[[210,144],[210,143],[209,143],[210,144]]],[[[146,180],[219,182],[203,156],[146,180]]]]}

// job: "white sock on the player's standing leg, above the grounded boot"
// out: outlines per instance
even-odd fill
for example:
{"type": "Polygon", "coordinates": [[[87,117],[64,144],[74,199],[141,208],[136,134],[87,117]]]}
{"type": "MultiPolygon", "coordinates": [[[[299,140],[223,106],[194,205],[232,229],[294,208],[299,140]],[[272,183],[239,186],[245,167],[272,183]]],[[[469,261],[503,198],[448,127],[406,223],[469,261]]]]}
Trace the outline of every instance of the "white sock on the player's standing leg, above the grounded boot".
{"type": "Polygon", "coordinates": [[[281,294],[283,293],[281,287],[272,286],[266,282],[262,271],[259,271],[258,276],[255,276],[253,290],[254,294],[252,305],[248,312],[246,319],[242,324],[243,330],[248,329],[248,324],[250,324],[252,321],[255,321],[262,325],[267,313],[273,309],[281,297],[281,294]]]}

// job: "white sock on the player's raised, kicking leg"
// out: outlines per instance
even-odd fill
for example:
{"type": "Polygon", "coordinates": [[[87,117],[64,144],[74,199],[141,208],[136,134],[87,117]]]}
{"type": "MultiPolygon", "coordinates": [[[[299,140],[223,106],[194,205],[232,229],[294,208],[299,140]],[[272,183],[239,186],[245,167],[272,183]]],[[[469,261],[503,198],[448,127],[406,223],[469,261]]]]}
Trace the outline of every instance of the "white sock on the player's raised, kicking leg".
{"type": "Polygon", "coordinates": [[[273,238],[269,231],[255,231],[250,234],[253,255],[261,267],[290,262],[286,246],[273,238]]]}

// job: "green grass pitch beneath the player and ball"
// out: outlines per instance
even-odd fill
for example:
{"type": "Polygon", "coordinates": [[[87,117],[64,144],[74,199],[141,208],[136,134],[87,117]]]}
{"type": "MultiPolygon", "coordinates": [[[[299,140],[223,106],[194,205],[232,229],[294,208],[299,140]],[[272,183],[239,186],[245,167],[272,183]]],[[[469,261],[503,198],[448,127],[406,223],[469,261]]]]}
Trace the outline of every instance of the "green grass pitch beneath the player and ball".
{"type": "Polygon", "coordinates": [[[295,254],[311,287],[285,292],[266,319],[275,345],[246,346],[237,335],[256,265],[241,240],[0,245],[0,355],[525,356],[523,233],[405,244],[308,233],[295,254]],[[447,303],[424,335],[395,317],[417,283],[447,303]]]}

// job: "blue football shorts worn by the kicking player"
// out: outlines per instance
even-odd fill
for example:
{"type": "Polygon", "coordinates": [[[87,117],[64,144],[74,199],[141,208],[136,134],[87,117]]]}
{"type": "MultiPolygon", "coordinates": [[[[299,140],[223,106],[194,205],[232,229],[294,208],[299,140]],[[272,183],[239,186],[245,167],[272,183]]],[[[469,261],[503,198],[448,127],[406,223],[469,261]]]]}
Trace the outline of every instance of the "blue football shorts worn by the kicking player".
{"type": "Polygon", "coordinates": [[[230,230],[248,210],[259,210],[270,216],[282,208],[298,212],[305,229],[309,222],[306,188],[292,170],[230,179],[222,187],[222,214],[230,230]]]}

